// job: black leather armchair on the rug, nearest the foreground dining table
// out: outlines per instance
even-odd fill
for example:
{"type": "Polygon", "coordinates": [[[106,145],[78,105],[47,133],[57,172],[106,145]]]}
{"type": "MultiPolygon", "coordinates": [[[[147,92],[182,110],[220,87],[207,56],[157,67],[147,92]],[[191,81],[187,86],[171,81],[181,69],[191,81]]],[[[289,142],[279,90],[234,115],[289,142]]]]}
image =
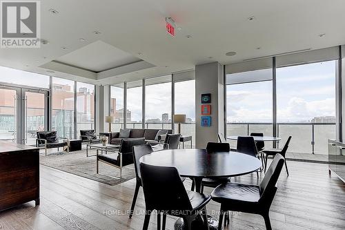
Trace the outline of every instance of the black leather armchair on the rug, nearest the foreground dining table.
{"type": "Polygon", "coordinates": [[[115,166],[120,169],[120,178],[122,178],[122,167],[133,164],[132,147],[145,144],[145,138],[133,138],[130,140],[121,140],[119,151],[112,151],[108,149],[108,152],[114,152],[110,154],[98,154],[97,151],[97,173],[99,173],[99,162],[115,166]]]}

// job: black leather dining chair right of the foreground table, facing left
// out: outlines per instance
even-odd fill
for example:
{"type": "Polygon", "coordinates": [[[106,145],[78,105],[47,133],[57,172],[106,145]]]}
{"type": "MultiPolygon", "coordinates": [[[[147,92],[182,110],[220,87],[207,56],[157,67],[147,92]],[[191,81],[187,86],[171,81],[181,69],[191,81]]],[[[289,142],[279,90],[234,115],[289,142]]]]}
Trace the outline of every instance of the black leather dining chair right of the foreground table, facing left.
{"type": "Polygon", "coordinates": [[[228,211],[241,211],[262,215],[267,230],[270,225],[270,205],[277,192],[277,180],[284,164],[284,157],[280,154],[270,164],[270,167],[259,185],[239,184],[229,182],[221,184],[211,193],[212,200],[221,204],[218,230],[223,227],[224,214],[228,211]]]}

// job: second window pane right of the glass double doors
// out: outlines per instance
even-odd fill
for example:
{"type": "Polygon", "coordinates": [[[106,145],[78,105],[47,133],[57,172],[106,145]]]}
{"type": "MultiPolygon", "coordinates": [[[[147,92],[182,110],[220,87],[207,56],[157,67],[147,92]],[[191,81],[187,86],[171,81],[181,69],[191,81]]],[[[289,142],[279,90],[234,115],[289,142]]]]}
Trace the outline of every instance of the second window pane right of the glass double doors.
{"type": "Polygon", "coordinates": [[[77,135],[80,130],[95,129],[95,86],[77,82],[77,135]]]}

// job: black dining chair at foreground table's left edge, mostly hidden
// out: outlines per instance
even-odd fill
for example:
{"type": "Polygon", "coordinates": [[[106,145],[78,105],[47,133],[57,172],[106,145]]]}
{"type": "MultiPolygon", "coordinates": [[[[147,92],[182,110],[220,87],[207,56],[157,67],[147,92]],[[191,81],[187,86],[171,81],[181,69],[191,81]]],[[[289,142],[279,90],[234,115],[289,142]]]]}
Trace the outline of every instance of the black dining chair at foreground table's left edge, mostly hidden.
{"type": "Polygon", "coordinates": [[[139,193],[140,186],[142,186],[141,182],[141,174],[140,174],[140,169],[139,169],[139,159],[143,155],[150,154],[152,153],[152,147],[150,144],[143,144],[143,145],[137,145],[133,146],[133,161],[134,161],[134,166],[135,166],[135,192],[133,195],[133,200],[132,200],[132,206],[130,207],[130,216],[129,218],[132,218],[133,211],[135,208],[135,202],[137,201],[137,196],[139,193]]]}

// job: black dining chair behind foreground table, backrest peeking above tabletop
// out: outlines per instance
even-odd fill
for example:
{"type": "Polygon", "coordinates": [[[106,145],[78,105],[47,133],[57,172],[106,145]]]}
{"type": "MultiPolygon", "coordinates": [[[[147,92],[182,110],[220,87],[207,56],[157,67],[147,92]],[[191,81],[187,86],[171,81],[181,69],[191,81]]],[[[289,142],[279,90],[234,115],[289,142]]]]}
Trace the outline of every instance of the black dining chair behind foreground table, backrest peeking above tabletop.
{"type": "MultiPolygon", "coordinates": [[[[209,154],[213,154],[217,152],[229,152],[230,151],[230,144],[229,143],[218,143],[218,142],[208,142],[206,146],[206,151],[209,154]]],[[[203,178],[201,181],[201,193],[204,193],[204,186],[215,188],[219,184],[226,183],[230,180],[230,178],[203,178]]],[[[192,183],[193,187],[193,183],[192,183]]],[[[193,188],[194,190],[194,188],[193,188]]]]}

